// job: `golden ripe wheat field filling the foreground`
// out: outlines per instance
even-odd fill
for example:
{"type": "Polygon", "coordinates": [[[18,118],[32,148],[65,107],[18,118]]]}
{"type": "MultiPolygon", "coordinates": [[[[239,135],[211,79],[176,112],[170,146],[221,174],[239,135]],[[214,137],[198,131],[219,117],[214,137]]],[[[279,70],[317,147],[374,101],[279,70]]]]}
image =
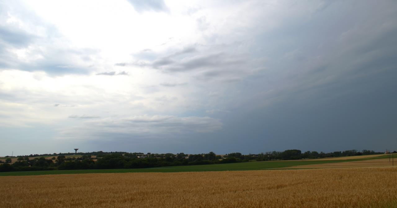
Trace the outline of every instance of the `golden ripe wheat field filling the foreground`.
{"type": "Polygon", "coordinates": [[[2,208],[396,207],[397,168],[0,177],[2,208]]]}

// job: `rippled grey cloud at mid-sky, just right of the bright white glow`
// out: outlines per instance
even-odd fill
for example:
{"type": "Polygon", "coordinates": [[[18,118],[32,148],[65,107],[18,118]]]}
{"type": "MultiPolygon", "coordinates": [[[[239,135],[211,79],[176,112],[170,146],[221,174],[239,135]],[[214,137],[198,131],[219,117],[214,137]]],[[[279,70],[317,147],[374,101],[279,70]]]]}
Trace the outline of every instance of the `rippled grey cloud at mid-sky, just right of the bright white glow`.
{"type": "Polygon", "coordinates": [[[233,46],[235,44],[219,45],[214,48],[187,46],[171,55],[159,54],[160,57],[153,61],[137,60],[131,64],[118,63],[116,65],[150,67],[165,73],[190,73],[196,79],[223,81],[239,81],[264,68],[265,60],[262,58],[254,58],[247,53],[225,52],[233,46]]]}

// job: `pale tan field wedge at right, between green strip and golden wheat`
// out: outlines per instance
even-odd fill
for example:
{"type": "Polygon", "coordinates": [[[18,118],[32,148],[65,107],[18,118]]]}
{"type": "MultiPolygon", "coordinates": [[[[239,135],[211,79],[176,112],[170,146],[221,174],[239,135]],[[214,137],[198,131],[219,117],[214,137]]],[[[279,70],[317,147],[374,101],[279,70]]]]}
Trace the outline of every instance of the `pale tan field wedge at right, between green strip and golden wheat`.
{"type": "MultiPolygon", "coordinates": [[[[391,159],[390,159],[391,161],[391,159]]],[[[362,167],[384,167],[392,166],[392,162],[389,162],[388,158],[384,159],[373,159],[373,160],[361,160],[354,162],[337,162],[337,163],[324,163],[324,164],[313,164],[303,166],[292,166],[287,168],[279,169],[307,169],[307,168],[362,168],[362,167]]],[[[395,158],[394,165],[397,167],[397,158],[395,158]]]]}

